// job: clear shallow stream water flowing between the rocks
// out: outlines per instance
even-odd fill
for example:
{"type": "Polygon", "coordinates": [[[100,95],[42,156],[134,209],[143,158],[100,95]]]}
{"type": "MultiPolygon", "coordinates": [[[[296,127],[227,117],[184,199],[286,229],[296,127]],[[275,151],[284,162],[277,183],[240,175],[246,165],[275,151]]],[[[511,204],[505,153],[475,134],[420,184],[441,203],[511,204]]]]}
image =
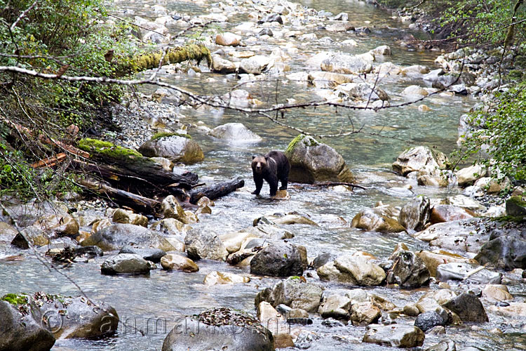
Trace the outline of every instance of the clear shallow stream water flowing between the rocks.
{"type": "MultiPolygon", "coordinates": [[[[161,4],[168,11],[178,13],[207,13],[208,6],[192,2],[178,1],[118,1],[119,15],[141,15],[154,18],[152,7],[147,4],[161,4]]],[[[317,51],[342,51],[348,53],[364,53],[371,48],[387,44],[393,49],[393,55],[388,59],[397,65],[427,65],[433,68],[436,53],[412,51],[402,48],[396,41],[405,34],[412,33],[406,25],[391,19],[390,13],[381,11],[360,1],[304,1],[304,5],[317,10],[332,13],[349,13],[349,19],[357,27],[367,25],[370,21],[372,33],[367,36],[350,36],[350,34],[335,34],[323,30],[302,28],[302,33],[315,32],[318,38],[328,36],[333,41],[314,41],[312,43],[297,42],[299,52],[292,55],[288,62],[292,72],[306,68],[306,59],[317,51]],[[339,44],[344,39],[358,41],[356,47],[346,47],[339,44]]],[[[243,15],[241,14],[241,17],[243,15]]],[[[419,35],[417,33],[412,33],[419,35]]],[[[420,34],[421,35],[421,34],[420,34]]],[[[260,53],[269,54],[275,47],[264,42],[258,43],[260,53]]],[[[277,41],[276,41],[277,42],[277,41]]],[[[250,47],[246,48],[250,50],[250,47]]],[[[204,67],[203,67],[204,69],[204,67]]],[[[168,74],[163,70],[163,79],[174,84],[183,84],[196,92],[225,93],[236,86],[235,77],[204,72],[201,77],[187,77],[186,74],[168,74]],[[205,82],[207,78],[213,82],[205,82]],[[183,83],[181,83],[183,82],[183,83]]],[[[410,79],[389,78],[380,86],[391,95],[391,105],[405,102],[397,96],[403,88],[412,81],[410,79]]],[[[419,82],[423,84],[422,81],[419,82]]],[[[308,100],[316,98],[313,88],[289,82],[247,84],[243,88],[259,100],[271,99],[274,102],[285,102],[286,98],[308,100]]],[[[284,150],[296,131],[278,126],[269,119],[257,116],[246,116],[237,112],[217,111],[201,108],[181,110],[187,116],[184,123],[203,121],[213,128],[229,122],[242,122],[252,131],[262,136],[260,143],[224,143],[220,140],[190,131],[205,153],[205,161],[189,166],[205,182],[213,182],[237,176],[245,179],[245,187],[224,199],[215,201],[211,216],[203,216],[197,226],[213,228],[218,233],[240,230],[252,225],[252,220],[265,213],[285,213],[297,211],[308,214],[320,223],[320,227],[304,225],[290,226],[288,229],[295,234],[290,242],[306,246],[309,257],[318,253],[346,253],[357,250],[370,252],[381,258],[389,256],[393,247],[400,241],[405,242],[410,249],[427,247],[422,241],[417,241],[407,234],[379,234],[363,232],[349,227],[351,219],[364,208],[375,206],[377,201],[384,204],[403,204],[416,194],[427,194],[430,197],[444,197],[447,194],[457,194],[455,189],[438,189],[434,187],[419,187],[412,184],[414,194],[401,192],[399,189],[408,180],[394,175],[391,163],[396,156],[410,145],[428,145],[436,147],[445,153],[450,152],[457,139],[457,124],[459,116],[466,112],[474,103],[470,98],[435,96],[425,100],[431,107],[430,112],[419,112],[417,105],[381,110],[379,112],[358,112],[335,110],[334,108],[305,109],[287,112],[286,123],[302,128],[311,133],[337,133],[340,128],[350,128],[349,120],[354,126],[366,126],[367,133],[357,133],[342,138],[323,139],[322,141],[342,154],[351,171],[355,173],[358,182],[367,190],[355,192],[338,192],[327,188],[303,187],[292,184],[289,188],[290,199],[268,199],[268,185],[264,185],[262,197],[255,197],[250,192],[255,188],[252,181],[250,161],[252,154],[264,154],[269,150],[284,150]],[[380,133],[383,136],[370,135],[380,133]],[[340,219],[343,218],[344,220],[340,219]]],[[[149,277],[108,277],[100,274],[100,264],[104,258],[97,258],[91,263],[76,263],[64,270],[79,286],[94,300],[104,300],[113,305],[119,312],[124,324],[119,326],[115,336],[102,340],[60,341],[53,350],[160,350],[166,333],[173,326],[173,321],[181,314],[193,314],[210,307],[227,306],[248,312],[255,312],[254,298],[257,291],[277,282],[277,279],[258,279],[254,277],[248,284],[236,286],[212,286],[202,284],[205,274],[213,270],[247,273],[230,267],[226,263],[215,261],[200,261],[201,270],[197,273],[166,272],[154,270],[149,277]],[[156,323],[154,323],[156,322],[156,323]],[[126,327],[126,325],[127,327],[126,327]],[[156,328],[154,327],[156,324],[156,328]],[[132,327],[133,326],[133,327],[132,327]],[[144,332],[144,336],[137,330],[144,332]],[[155,330],[156,329],[156,330],[155,330]]],[[[77,295],[76,288],[63,277],[53,271],[48,271],[31,254],[25,259],[10,263],[2,263],[0,271],[0,294],[15,291],[46,291],[77,295]]],[[[331,289],[343,289],[342,286],[331,286],[331,289]]],[[[523,286],[511,286],[512,293],[525,291],[523,286]]],[[[426,289],[416,291],[399,291],[398,289],[372,289],[379,295],[386,296],[399,307],[414,301],[426,292],[426,289]]],[[[506,349],[522,350],[526,341],[520,331],[522,326],[507,326],[506,321],[492,317],[492,326],[484,326],[490,330],[500,326],[504,336],[495,336],[487,331],[473,331],[469,326],[447,329],[447,337],[457,342],[457,348],[462,345],[478,345],[485,350],[506,349]],[[508,332],[509,331],[509,332],[508,332]]],[[[311,330],[316,331],[321,339],[313,343],[309,350],[384,350],[378,345],[362,345],[360,340],[364,327],[337,327],[329,329],[321,326],[321,320],[315,319],[311,330]]],[[[424,347],[437,343],[442,337],[427,336],[424,347]]]]}

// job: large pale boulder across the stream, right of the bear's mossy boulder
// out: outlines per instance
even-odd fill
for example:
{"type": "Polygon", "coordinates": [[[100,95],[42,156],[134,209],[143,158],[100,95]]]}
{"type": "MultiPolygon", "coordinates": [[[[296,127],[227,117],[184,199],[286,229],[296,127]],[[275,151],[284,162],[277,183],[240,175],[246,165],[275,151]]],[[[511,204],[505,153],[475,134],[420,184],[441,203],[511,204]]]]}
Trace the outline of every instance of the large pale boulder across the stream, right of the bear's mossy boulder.
{"type": "Polygon", "coordinates": [[[412,147],[402,152],[393,163],[393,171],[402,176],[414,171],[426,171],[432,173],[443,166],[443,154],[433,154],[426,146],[412,147]]]}

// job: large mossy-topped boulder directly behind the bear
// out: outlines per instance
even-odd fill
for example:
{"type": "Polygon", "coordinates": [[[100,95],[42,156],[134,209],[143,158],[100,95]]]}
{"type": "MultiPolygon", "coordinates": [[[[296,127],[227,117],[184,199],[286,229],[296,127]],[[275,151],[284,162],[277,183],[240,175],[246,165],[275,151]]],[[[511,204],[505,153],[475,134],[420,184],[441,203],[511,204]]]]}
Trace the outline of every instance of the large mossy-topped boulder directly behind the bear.
{"type": "Polygon", "coordinates": [[[298,135],[285,151],[290,162],[288,180],[295,183],[353,182],[342,155],[311,136],[298,135]]]}

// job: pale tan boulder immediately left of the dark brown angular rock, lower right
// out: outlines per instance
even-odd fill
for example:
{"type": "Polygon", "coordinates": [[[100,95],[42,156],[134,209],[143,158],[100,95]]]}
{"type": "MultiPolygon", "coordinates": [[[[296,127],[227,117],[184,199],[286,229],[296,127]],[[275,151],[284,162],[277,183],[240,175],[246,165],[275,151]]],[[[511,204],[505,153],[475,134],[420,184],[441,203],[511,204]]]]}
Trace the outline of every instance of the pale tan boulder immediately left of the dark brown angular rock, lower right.
{"type": "Polygon", "coordinates": [[[318,268],[317,272],[323,280],[363,286],[379,285],[386,277],[379,265],[363,256],[339,256],[333,263],[318,268]]]}

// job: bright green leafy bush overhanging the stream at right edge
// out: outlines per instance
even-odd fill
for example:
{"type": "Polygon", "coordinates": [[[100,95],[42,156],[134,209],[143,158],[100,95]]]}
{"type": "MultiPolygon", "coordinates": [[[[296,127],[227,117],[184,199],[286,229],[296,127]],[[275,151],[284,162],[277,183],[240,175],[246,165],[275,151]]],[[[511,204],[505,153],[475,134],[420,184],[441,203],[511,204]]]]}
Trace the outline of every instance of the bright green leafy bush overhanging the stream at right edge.
{"type": "Polygon", "coordinates": [[[483,164],[497,166],[501,176],[526,180],[526,82],[496,95],[487,111],[472,112],[470,122],[481,128],[465,135],[457,157],[466,160],[487,148],[491,159],[483,164]]]}

